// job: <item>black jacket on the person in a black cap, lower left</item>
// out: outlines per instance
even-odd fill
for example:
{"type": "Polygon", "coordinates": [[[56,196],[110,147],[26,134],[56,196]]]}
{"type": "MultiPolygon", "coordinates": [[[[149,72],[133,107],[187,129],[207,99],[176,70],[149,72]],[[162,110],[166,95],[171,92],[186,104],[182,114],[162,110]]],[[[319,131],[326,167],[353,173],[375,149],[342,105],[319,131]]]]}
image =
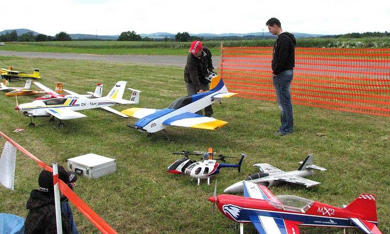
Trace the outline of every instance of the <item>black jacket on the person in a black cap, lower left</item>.
{"type": "MultiPolygon", "coordinates": [[[[54,194],[47,195],[39,190],[32,190],[27,200],[26,208],[29,210],[24,222],[25,234],[57,234],[56,206],[54,194]]],[[[62,234],[72,234],[61,212],[62,234]]]]}

